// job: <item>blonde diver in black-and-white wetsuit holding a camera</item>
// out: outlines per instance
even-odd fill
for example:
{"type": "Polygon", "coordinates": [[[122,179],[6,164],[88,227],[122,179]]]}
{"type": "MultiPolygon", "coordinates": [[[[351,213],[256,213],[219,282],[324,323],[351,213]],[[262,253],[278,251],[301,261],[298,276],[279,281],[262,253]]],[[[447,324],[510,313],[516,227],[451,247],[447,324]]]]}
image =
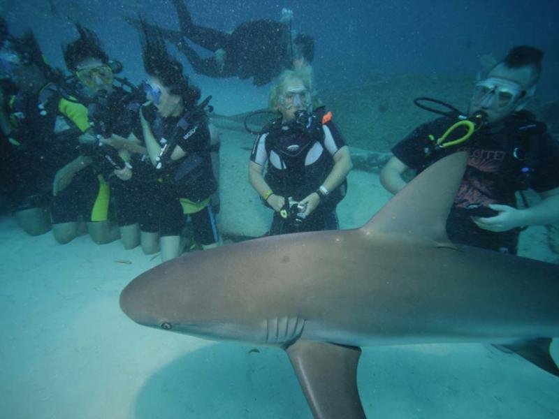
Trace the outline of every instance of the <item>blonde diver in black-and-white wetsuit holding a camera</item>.
{"type": "Polygon", "coordinates": [[[249,163],[252,187],[274,210],[270,235],[339,228],[351,156],[331,112],[312,103],[310,68],[284,71],[270,90],[280,116],[256,138],[249,163]]]}

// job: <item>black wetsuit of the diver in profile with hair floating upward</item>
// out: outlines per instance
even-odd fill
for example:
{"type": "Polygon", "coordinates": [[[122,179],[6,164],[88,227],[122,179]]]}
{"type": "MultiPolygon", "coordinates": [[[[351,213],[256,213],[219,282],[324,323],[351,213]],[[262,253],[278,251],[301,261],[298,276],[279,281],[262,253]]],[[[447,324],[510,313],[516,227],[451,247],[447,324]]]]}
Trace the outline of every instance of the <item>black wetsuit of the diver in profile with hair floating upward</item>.
{"type": "MultiPolygon", "coordinates": [[[[211,205],[203,205],[217,190],[217,180],[212,172],[210,157],[210,131],[203,110],[185,111],[178,117],[161,118],[154,115],[154,108],[143,110],[150,120],[152,133],[161,143],[175,142],[186,156],[177,161],[164,159],[163,166],[155,169],[147,156],[132,162],[133,170],[149,182],[152,193],[142,203],[145,214],[150,214],[140,224],[145,231],[158,232],[160,236],[180,235],[184,226],[184,198],[200,204],[198,212],[191,213],[194,237],[200,244],[213,244],[219,240],[215,216],[211,205]],[[181,200],[183,201],[181,203],[181,200]]],[[[169,155],[172,154],[170,150],[169,155]]]]}

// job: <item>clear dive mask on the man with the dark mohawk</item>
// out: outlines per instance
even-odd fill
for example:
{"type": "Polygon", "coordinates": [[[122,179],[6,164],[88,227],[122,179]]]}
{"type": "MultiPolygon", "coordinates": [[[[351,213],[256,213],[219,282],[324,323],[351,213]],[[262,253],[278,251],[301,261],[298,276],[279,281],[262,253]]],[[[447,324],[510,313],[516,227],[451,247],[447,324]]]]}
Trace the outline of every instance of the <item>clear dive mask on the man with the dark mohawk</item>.
{"type": "Polygon", "coordinates": [[[492,108],[496,112],[504,112],[527,94],[533,94],[534,90],[535,86],[526,91],[516,82],[501,78],[488,78],[476,83],[472,101],[474,105],[492,108]]]}

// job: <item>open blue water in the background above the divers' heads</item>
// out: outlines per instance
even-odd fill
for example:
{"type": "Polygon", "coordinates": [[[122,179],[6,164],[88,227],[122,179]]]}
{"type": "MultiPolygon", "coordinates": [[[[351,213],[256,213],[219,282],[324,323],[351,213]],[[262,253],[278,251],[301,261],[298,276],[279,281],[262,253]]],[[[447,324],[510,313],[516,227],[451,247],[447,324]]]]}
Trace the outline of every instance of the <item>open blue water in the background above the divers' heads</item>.
{"type": "MultiPolygon", "coordinates": [[[[134,81],[144,77],[138,34],[122,16],[141,13],[161,26],[177,28],[175,10],[167,1],[54,0],[58,15],[50,14],[47,0],[3,3],[13,32],[33,27],[52,64],[63,66],[60,43],[76,36],[68,15],[94,29],[111,57],[123,62],[123,74],[134,81]]],[[[372,78],[409,73],[475,74],[481,68],[480,55],[501,58],[510,47],[528,44],[546,52],[539,94],[556,98],[559,93],[559,79],[554,76],[559,70],[557,1],[199,0],[187,4],[194,22],[223,31],[247,20],[279,19],[282,8],[291,8],[294,29],[315,38],[313,66],[321,89],[343,89],[372,78]]],[[[214,96],[216,112],[231,114],[266,105],[267,88],[256,89],[247,80],[214,80],[196,74],[192,78],[204,94],[214,96]],[[232,101],[239,96],[236,103],[232,101]]]]}

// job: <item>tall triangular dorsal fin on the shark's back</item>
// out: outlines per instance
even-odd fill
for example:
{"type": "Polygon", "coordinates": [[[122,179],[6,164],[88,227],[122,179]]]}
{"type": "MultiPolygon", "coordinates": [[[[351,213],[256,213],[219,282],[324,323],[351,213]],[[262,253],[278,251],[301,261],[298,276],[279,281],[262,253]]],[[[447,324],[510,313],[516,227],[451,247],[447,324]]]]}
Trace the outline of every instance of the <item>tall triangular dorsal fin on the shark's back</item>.
{"type": "Polygon", "coordinates": [[[447,237],[447,217],[466,163],[466,152],[437,161],[409,182],[362,229],[453,247],[447,237]]]}

